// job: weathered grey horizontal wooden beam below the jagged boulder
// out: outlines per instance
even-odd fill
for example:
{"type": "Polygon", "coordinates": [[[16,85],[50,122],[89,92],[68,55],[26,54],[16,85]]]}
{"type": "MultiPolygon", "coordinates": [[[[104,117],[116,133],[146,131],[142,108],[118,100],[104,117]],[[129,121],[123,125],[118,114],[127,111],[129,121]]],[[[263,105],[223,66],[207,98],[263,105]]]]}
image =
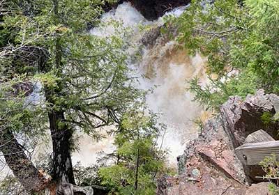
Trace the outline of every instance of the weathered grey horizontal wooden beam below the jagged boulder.
{"type": "Polygon", "coordinates": [[[266,156],[272,153],[279,160],[279,141],[264,141],[259,143],[245,143],[236,148],[236,154],[247,165],[259,164],[266,156]]]}

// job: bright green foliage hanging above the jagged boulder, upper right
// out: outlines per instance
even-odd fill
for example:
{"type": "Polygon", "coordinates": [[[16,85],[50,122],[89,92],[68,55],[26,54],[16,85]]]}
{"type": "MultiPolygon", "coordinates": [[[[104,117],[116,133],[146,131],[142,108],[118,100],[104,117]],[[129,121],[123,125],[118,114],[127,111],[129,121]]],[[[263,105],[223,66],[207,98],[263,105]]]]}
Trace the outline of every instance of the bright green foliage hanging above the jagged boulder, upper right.
{"type": "Polygon", "coordinates": [[[257,88],[278,93],[278,1],[191,1],[175,21],[179,41],[191,54],[208,56],[217,81],[204,88],[191,82],[196,100],[218,108],[229,95],[245,97],[257,88]],[[228,70],[237,70],[229,75],[228,70]]]}

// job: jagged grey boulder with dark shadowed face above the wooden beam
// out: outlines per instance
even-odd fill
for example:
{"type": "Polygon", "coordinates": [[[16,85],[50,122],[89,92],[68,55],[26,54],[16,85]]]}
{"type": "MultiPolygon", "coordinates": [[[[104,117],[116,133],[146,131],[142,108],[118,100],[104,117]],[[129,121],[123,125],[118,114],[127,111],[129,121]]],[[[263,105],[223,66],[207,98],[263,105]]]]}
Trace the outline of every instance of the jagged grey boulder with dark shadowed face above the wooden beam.
{"type": "Polygon", "coordinates": [[[271,137],[278,139],[277,123],[264,124],[263,114],[272,115],[279,111],[279,97],[274,94],[265,94],[259,90],[255,95],[248,95],[242,101],[238,96],[231,97],[220,109],[225,131],[232,140],[234,148],[245,141],[248,134],[257,130],[265,130],[271,137]]]}

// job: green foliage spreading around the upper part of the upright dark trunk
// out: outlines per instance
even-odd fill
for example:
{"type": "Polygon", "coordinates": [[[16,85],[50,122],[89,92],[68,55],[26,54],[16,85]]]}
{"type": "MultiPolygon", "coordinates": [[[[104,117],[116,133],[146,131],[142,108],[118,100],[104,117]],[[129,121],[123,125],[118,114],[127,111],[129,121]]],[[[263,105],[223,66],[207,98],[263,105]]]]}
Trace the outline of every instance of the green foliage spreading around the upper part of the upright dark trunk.
{"type": "Polygon", "coordinates": [[[100,139],[96,129],[119,123],[144,95],[129,77],[126,43],[117,35],[100,38],[87,31],[99,24],[104,3],[114,1],[55,2],[8,3],[13,11],[3,17],[1,32],[12,33],[14,41],[1,48],[0,79],[13,79],[16,73],[40,81],[48,99],[41,115],[63,111],[67,117],[59,127],[81,128],[100,139]]]}

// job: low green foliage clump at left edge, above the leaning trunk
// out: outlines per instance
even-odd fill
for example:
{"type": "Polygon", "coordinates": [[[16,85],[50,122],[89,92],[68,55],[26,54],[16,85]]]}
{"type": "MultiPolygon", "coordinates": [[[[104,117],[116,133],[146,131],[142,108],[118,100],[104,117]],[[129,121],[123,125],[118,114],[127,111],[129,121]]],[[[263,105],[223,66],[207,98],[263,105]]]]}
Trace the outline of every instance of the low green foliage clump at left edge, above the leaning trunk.
{"type": "Polygon", "coordinates": [[[27,100],[33,91],[29,78],[15,77],[1,85],[0,93],[0,129],[11,130],[33,137],[43,134],[40,131],[46,122],[44,107],[36,106],[27,100]]]}

